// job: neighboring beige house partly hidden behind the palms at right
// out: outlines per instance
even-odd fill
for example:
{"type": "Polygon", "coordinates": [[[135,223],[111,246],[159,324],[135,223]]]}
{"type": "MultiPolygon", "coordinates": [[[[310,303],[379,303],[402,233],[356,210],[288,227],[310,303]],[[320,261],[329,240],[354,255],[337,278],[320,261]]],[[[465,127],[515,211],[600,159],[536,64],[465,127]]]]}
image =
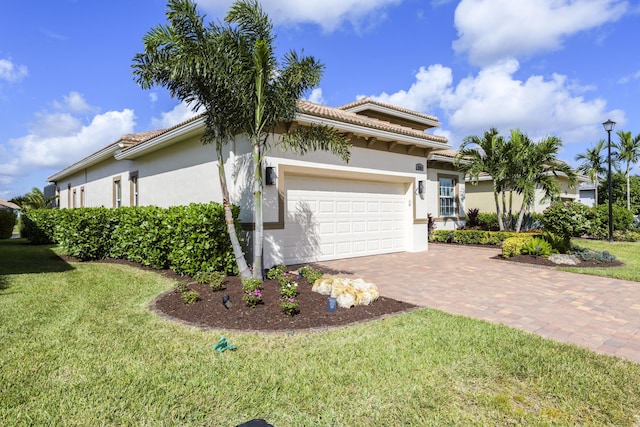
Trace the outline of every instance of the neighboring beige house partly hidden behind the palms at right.
{"type": "MultiPolygon", "coordinates": [[[[566,175],[558,174],[556,176],[558,184],[560,185],[560,199],[564,201],[580,201],[579,185],[582,182],[587,181],[587,178],[582,175],[578,175],[577,184],[569,186],[569,180],[566,175]]],[[[477,185],[471,183],[469,177],[466,178],[466,207],[467,209],[479,209],[480,212],[495,212],[496,204],[493,197],[493,178],[484,174],[478,179],[477,185]]],[[[536,189],[536,195],[533,200],[530,212],[542,213],[551,204],[550,200],[544,200],[544,191],[542,189],[536,189]]],[[[507,203],[509,201],[509,193],[507,192],[507,203]]],[[[500,206],[502,207],[502,196],[500,196],[500,206]]],[[[513,192],[513,212],[518,213],[522,206],[522,196],[513,192]]]]}

